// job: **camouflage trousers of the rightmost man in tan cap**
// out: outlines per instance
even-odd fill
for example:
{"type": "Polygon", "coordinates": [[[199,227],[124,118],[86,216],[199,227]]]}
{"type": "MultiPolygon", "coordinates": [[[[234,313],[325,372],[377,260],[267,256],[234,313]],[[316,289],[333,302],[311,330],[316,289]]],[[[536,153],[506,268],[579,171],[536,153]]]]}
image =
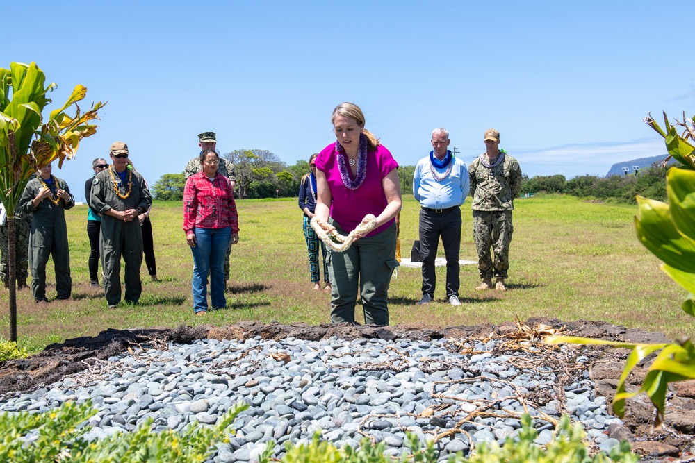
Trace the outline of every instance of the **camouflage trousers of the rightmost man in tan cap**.
{"type": "Polygon", "coordinates": [[[480,278],[507,278],[513,233],[511,210],[473,210],[473,241],[478,253],[480,278]],[[494,263],[490,248],[495,255],[494,263]]]}

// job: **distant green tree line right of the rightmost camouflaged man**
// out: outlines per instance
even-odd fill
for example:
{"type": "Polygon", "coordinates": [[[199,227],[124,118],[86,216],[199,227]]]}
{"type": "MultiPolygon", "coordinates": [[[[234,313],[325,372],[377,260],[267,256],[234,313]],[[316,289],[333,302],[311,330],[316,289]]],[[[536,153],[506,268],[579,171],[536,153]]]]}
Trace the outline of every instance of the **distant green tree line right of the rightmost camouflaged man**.
{"type": "Polygon", "coordinates": [[[523,176],[521,195],[537,193],[571,194],[580,198],[612,199],[624,203],[636,203],[637,194],[666,201],[666,173],[670,167],[660,167],[655,162],[641,169],[639,174],[599,177],[581,175],[569,180],[563,175],[523,176]]]}

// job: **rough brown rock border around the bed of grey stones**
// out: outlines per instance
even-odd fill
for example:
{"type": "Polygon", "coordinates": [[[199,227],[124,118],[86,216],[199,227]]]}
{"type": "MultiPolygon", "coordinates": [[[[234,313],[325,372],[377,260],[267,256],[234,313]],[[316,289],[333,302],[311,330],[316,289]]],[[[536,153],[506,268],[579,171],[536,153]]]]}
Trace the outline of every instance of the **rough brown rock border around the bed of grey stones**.
{"type": "MultiPolygon", "coordinates": [[[[533,318],[524,324],[535,328],[545,324],[559,329],[565,334],[610,339],[625,342],[660,343],[669,342],[660,333],[632,330],[613,326],[600,321],[574,321],[564,323],[557,319],[533,318]]],[[[281,325],[279,323],[240,322],[231,326],[213,327],[179,326],[177,328],[133,328],[129,330],[108,329],[96,337],[67,339],[63,344],[51,344],[42,353],[27,359],[10,360],[0,364],[0,398],[8,398],[29,392],[56,382],[64,376],[73,375],[86,369],[89,360],[122,353],[131,346],[153,346],[166,348],[167,343],[190,344],[196,339],[249,339],[260,336],[263,339],[284,339],[295,337],[316,341],[327,337],[340,339],[379,338],[393,339],[441,339],[441,338],[489,338],[507,335],[518,330],[516,323],[503,323],[500,326],[483,324],[478,326],[426,326],[403,324],[398,326],[359,326],[350,323],[339,325],[309,326],[304,323],[281,325]]],[[[605,396],[610,403],[621,376],[623,364],[628,355],[626,349],[613,349],[605,346],[587,347],[586,354],[591,361],[591,378],[596,383],[596,394],[605,396]]],[[[628,392],[639,389],[644,378],[648,358],[641,362],[628,378],[628,392]]],[[[669,406],[664,417],[664,430],[653,432],[651,423],[654,410],[645,396],[637,396],[626,403],[625,426],[612,426],[607,430],[611,437],[629,439],[635,451],[645,457],[662,458],[692,451],[692,436],[695,435],[695,382],[680,382],[669,388],[669,406]]]]}

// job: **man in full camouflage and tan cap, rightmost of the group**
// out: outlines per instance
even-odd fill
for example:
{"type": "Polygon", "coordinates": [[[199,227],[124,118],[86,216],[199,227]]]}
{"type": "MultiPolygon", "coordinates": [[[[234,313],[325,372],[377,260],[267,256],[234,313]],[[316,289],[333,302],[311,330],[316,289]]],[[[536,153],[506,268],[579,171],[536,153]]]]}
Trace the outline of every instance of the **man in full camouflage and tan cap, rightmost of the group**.
{"type": "Polygon", "coordinates": [[[516,159],[500,151],[500,133],[494,128],[485,132],[486,152],[468,166],[473,196],[473,240],[478,254],[482,283],[475,289],[507,291],[505,279],[509,269],[509,244],[512,242],[514,198],[521,190],[521,167],[516,159]],[[495,260],[490,255],[493,249],[495,260]]]}

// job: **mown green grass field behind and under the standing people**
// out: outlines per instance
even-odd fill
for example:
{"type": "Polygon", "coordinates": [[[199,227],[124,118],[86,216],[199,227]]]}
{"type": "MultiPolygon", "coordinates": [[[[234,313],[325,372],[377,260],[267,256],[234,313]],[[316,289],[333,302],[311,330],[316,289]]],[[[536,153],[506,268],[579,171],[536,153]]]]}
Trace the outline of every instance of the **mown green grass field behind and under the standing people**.
{"type": "MultiPolygon", "coordinates": [[[[470,199],[468,199],[470,201],[470,199]]],[[[238,201],[240,242],[231,253],[228,308],[193,315],[190,280],[193,258],[181,229],[181,203],[157,202],[152,209],[160,283],[142,262],[140,305],[106,310],[103,294],[89,287],[87,206],[67,211],[72,263],[72,300],[34,305],[30,291],[18,292],[19,346],[40,351],[51,342],[95,335],[106,328],[177,326],[241,320],[329,323],[329,295],[309,281],[302,213],[296,199],[238,201]]],[[[475,260],[472,218],[463,212],[461,258],[475,260]]],[[[529,317],[562,321],[603,320],[671,338],[693,335],[694,321],[680,310],[687,295],[659,269],[660,261],[637,241],[636,206],[587,203],[570,196],[516,201],[507,292],[476,292],[475,265],[461,267],[461,302],[445,301],[445,268],[437,267],[435,302],[420,307],[420,269],[400,267],[392,280],[391,324],[440,326],[502,323],[529,317]]],[[[418,233],[419,205],[404,195],[402,251],[409,256],[418,233]]],[[[439,255],[443,255],[443,251],[439,255]]],[[[52,263],[47,296],[56,296],[52,263]]],[[[0,292],[0,336],[9,336],[8,294],[0,292]]],[[[358,305],[358,310],[360,306],[358,305]]],[[[361,314],[359,315],[361,319],[361,314]]]]}

